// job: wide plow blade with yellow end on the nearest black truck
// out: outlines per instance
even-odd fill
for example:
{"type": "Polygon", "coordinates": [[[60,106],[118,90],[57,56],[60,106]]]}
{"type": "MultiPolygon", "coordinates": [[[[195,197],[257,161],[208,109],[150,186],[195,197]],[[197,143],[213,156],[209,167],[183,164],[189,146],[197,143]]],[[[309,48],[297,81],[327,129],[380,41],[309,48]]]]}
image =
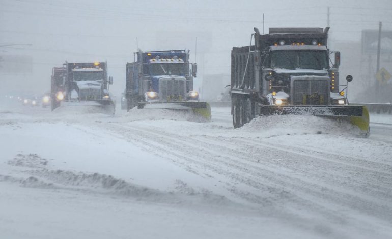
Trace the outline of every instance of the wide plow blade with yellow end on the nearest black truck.
{"type": "Polygon", "coordinates": [[[369,136],[369,111],[363,105],[260,105],[260,115],[315,115],[348,120],[369,136]]]}

